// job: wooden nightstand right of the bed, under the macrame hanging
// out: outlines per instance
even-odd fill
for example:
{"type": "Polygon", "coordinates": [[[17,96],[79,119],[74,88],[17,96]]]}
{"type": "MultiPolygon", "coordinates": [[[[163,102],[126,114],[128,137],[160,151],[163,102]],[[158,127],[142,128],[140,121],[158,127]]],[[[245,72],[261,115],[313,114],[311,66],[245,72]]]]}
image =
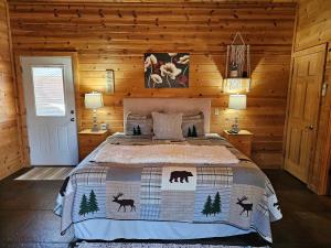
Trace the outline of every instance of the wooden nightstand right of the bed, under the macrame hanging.
{"type": "Polygon", "coordinates": [[[227,130],[223,131],[223,137],[247,157],[252,154],[253,136],[247,130],[241,130],[238,133],[229,133],[227,130]]]}

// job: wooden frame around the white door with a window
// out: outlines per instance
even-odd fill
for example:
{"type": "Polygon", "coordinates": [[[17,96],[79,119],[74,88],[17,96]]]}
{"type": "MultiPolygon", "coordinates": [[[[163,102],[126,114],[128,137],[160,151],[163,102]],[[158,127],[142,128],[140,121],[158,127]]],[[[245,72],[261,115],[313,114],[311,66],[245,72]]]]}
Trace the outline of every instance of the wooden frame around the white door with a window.
{"type": "MultiPolygon", "coordinates": [[[[22,142],[22,164],[23,166],[31,166],[30,160],[30,147],[29,147],[29,137],[28,137],[28,127],[26,127],[26,106],[24,99],[24,89],[23,89],[23,78],[22,78],[22,65],[21,65],[21,56],[67,56],[72,58],[72,68],[73,68],[73,83],[74,83],[74,93],[75,93],[75,111],[76,111],[76,126],[77,132],[79,131],[81,126],[81,108],[79,106],[79,77],[78,77],[78,55],[77,52],[29,52],[29,51],[20,51],[14,53],[14,73],[15,73],[15,87],[18,89],[18,122],[19,129],[21,132],[21,142],[22,142]]],[[[78,133],[77,133],[78,136],[78,133]]],[[[77,145],[79,145],[77,143],[77,145]]],[[[79,147],[78,147],[79,150],[79,147]]]]}

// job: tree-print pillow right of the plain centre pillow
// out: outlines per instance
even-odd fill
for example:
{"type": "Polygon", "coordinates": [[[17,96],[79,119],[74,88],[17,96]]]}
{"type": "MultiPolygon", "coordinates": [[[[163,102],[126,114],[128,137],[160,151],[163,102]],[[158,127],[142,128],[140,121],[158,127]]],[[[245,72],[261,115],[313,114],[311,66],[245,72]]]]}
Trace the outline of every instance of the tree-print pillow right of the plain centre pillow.
{"type": "Polygon", "coordinates": [[[199,112],[195,115],[184,115],[182,122],[182,131],[184,137],[204,136],[204,115],[199,112]]]}

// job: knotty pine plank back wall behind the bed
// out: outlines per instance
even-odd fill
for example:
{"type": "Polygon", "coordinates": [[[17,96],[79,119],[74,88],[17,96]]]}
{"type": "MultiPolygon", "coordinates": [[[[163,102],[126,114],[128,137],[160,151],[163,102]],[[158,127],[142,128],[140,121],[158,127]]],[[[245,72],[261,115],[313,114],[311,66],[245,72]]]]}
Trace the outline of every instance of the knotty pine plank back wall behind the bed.
{"type": "MultiPolygon", "coordinates": [[[[77,2],[77,1],[75,1],[77,2]]],[[[79,127],[92,112],[84,94],[105,91],[106,69],[115,69],[115,94],[105,95],[99,121],[122,130],[124,97],[211,97],[222,132],[239,116],[255,133],[253,157],[260,166],[281,164],[282,132],[295,21],[293,3],[47,3],[10,1],[15,54],[24,51],[77,51],[79,127]],[[236,31],[252,45],[253,84],[247,110],[226,110],[222,94],[225,45],[236,31]],[[191,53],[190,88],[146,89],[143,53],[191,53]]]]}

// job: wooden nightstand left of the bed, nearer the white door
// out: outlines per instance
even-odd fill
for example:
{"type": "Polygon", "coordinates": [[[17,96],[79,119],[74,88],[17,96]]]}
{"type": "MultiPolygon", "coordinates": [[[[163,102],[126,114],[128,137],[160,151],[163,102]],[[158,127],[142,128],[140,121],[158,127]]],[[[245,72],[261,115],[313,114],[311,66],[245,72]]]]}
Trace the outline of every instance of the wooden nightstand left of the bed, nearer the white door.
{"type": "Polygon", "coordinates": [[[78,132],[79,141],[79,160],[88,155],[97,145],[104,142],[109,136],[108,130],[99,130],[93,132],[90,129],[85,129],[78,132]]]}

